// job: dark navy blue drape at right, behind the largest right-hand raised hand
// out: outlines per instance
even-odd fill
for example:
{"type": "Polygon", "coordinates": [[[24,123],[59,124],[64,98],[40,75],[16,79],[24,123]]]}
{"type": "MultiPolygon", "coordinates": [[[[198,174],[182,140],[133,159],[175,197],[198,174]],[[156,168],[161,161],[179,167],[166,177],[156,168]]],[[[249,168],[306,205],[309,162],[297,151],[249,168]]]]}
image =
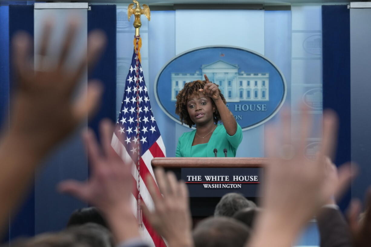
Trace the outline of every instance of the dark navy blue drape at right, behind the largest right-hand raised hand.
{"type": "MultiPolygon", "coordinates": [[[[322,6],[323,107],[339,116],[335,164],[351,160],[350,20],[347,5],[322,6]]],[[[348,192],[339,204],[350,200],[348,192]]]]}

